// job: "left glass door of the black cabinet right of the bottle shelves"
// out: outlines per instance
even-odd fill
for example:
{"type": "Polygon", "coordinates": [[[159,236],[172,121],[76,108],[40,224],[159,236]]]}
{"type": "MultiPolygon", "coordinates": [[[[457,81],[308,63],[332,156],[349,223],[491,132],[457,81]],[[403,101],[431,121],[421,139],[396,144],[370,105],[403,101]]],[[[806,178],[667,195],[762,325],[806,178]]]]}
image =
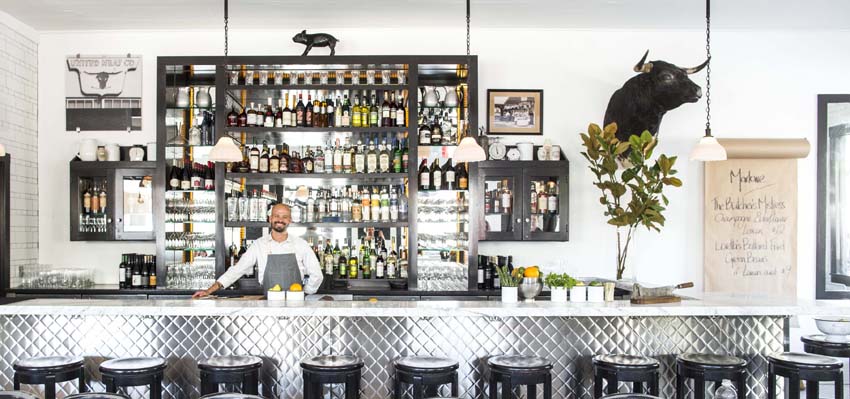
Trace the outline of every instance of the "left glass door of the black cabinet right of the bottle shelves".
{"type": "Polygon", "coordinates": [[[482,169],[479,179],[484,189],[484,240],[520,240],[522,205],[519,196],[521,174],[509,168],[482,169]]]}

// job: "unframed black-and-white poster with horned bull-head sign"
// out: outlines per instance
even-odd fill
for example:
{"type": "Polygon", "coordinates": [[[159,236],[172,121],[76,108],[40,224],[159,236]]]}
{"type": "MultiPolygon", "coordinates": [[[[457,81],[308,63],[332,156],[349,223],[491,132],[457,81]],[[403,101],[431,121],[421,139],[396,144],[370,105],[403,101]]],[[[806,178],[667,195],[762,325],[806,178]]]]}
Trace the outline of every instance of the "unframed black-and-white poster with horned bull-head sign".
{"type": "Polygon", "coordinates": [[[66,130],[141,128],[141,56],[78,54],[66,58],[66,130]]]}

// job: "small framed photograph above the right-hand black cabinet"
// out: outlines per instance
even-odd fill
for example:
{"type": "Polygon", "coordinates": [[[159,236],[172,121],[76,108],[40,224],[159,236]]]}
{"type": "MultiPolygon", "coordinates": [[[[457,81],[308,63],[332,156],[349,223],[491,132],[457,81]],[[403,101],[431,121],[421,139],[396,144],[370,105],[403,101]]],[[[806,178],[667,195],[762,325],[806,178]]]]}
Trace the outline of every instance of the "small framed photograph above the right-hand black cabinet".
{"type": "Polygon", "coordinates": [[[543,134],[543,90],[487,89],[487,134],[543,134]]]}

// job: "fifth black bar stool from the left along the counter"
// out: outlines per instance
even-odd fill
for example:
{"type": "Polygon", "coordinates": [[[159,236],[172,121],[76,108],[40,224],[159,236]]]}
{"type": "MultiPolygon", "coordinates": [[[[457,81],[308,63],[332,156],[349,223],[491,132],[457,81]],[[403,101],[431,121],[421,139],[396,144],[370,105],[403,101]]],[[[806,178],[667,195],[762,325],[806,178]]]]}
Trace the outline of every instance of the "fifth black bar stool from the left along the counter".
{"type": "Polygon", "coordinates": [[[395,366],[393,398],[401,399],[404,385],[413,386],[413,399],[437,396],[440,385],[450,384],[452,396],[457,396],[458,362],[444,357],[409,356],[398,358],[395,366]]]}

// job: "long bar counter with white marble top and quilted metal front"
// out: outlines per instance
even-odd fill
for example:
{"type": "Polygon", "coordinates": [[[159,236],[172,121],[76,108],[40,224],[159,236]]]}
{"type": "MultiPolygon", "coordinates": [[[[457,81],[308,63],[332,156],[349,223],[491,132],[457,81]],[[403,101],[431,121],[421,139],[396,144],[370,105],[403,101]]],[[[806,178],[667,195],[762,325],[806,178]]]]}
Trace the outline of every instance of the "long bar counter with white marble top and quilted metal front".
{"type": "MultiPolygon", "coordinates": [[[[590,398],[590,356],[621,352],[659,359],[661,396],[672,397],[675,356],[699,351],[748,360],[747,395],[756,398],[766,394],[764,355],[785,348],[789,317],[846,314],[846,303],[725,295],[640,306],[628,301],[33,299],[0,306],[0,380],[11,387],[11,364],[20,358],[80,355],[86,358],[91,389],[102,391],[96,370],[105,359],[159,356],[169,363],[165,397],[194,398],[199,359],[253,354],[264,359],[265,396],[300,398],[300,360],[352,353],[365,362],[362,397],[386,398],[393,359],[438,355],[460,362],[461,397],[484,398],[486,357],[519,353],[554,363],[554,397],[590,398]]],[[[70,385],[62,389],[74,391],[70,385]]]]}

